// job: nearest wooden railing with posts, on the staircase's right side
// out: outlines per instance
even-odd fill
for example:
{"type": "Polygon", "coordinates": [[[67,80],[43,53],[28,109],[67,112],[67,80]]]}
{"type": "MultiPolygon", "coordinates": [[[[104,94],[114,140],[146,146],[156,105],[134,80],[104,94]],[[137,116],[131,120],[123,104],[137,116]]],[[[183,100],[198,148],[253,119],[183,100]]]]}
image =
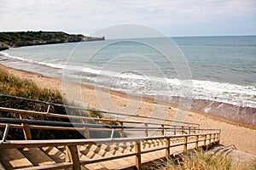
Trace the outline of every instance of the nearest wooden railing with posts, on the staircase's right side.
{"type": "MultiPolygon", "coordinates": [[[[73,169],[79,169],[80,165],[84,164],[89,164],[89,163],[96,163],[100,161],[108,161],[108,160],[113,160],[113,159],[119,159],[119,158],[124,158],[128,156],[135,156],[135,163],[137,169],[141,168],[142,165],[142,155],[149,153],[149,152],[154,152],[157,150],[166,150],[166,157],[168,158],[170,156],[170,148],[176,147],[179,145],[183,145],[183,152],[186,152],[188,150],[188,144],[194,144],[195,143],[195,149],[198,149],[198,143],[201,141],[204,141],[205,144],[207,144],[207,141],[209,141],[208,144],[215,144],[214,141],[218,141],[216,139],[216,134],[219,135],[220,132],[218,133],[197,133],[197,134],[181,134],[181,135],[169,135],[169,136],[157,136],[157,137],[145,137],[145,138],[132,138],[132,139],[127,139],[127,138],[122,138],[122,139],[57,139],[57,140],[11,140],[7,142],[3,142],[0,144],[0,149],[11,149],[11,148],[31,148],[31,147],[44,147],[44,146],[67,146],[68,148],[68,154],[71,159],[71,163],[73,166],[73,169]],[[212,135],[213,134],[213,135],[212,135]],[[210,139],[199,139],[199,137],[206,137],[207,135],[213,136],[210,139]],[[183,142],[181,141],[178,144],[170,144],[171,139],[175,138],[183,138],[183,142]],[[192,141],[189,141],[189,138],[193,137],[192,141]],[[196,137],[196,139],[194,138],[196,137]],[[141,150],[141,142],[147,141],[147,140],[153,140],[153,139],[164,139],[166,140],[166,146],[161,146],[161,147],[156,147],[153,149],[148,149],[148,150],[141,150]],[[102,158],[96,158],[96,159],[90,159],[86,161],[79,160],[79,150],[77,150],[78,145],[83,145],[83,144],[108,144],[108,143],[123,143],[123,142],[133,142],[135,145],[135,152],[134,153],[124,153],[122,155],[118,156],[107,156],[107,157],[102,157],[102,158]]],[[[70,164],[68,164],[70,166],[70,164]]],[[[57,163],[54,164],[53,166],[58,166],[57,163]]],[[[60,164],[60,166],[63,166],[60,164]]]]}

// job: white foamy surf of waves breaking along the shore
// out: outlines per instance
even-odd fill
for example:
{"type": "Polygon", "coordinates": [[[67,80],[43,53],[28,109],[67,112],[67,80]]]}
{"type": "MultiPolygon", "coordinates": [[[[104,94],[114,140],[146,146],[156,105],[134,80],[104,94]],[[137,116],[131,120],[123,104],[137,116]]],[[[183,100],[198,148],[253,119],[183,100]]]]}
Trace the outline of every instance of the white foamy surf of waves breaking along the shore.
{"type": "Polygon", "coordinates": [[[203,80],[178,80],[177,78],[151,77],[133,72],[119,73],[115,71],[101,71],[96,68],[81,65],[66,65],[63,59],[49,61],[34,61],[18,56],[11,56],[7,52],[0,52],[6,59],[20,60],[35,65],[44,65],[51,68],[82,72],[83,82],[95,83],[96,86],[112,88],[130,94],[145,94],[159,96],[178,96],[189,99],[208,99],[232,105],[256,107],[256,86],[238,85],[228,82],[212,82],[203,80]],[[93,74],[95,77],[86,77],[93,74]]]}

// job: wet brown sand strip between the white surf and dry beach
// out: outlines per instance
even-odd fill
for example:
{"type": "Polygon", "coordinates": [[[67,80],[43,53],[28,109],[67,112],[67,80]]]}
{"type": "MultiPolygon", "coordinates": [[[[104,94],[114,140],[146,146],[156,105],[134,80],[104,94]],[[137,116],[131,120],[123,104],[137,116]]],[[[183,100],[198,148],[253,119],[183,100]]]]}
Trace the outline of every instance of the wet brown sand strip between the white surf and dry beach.
{"type": "MultiPolygon", "coordinates": [[[[60,77],[48,77],[44,76],[43,74],[32,72],[32,71],[23,71],[20,69],[11,68],[5,65],[0,64],[0,68],[3,68],[4,70],[9,70],[10,72],[16,72],[18,75],[22,75],[21,78],[31,79],[33,82],[39,83],[41,85],[41,88],[55,88],[57,90],[61,89],[61,79],[60,77]],[[17,71],[20,71],[19,73],[17,71]],[[30,76],[28,76],[30,75],[30,76]],[[42,83],[40,79],[34,79],[30,78],[33,75],[34,77],[44,77],[47,82],[49,83],[49,86],[42,83]],[[57,82],[57,84],[55,84],[57,82]],[[54,85],[55,84],[55,85],[54,85]],[[58,86],[59,85],[59,86],[58,86]]],[[[75,84],[76,82],[70,82],[70,84],[75,84]]],[[[97,90],[108,92],[114,95],[118,95],[121,98],[129,97],[131,99],[143,99],[145,101],[150,102],[151,104],[154,104],[154,97],[151,96],[137,96],[136,94],[125,94],[125,92],[119,92],[114,90],[108,90],[106,88],[97,88],[90,85],[81,85],[83,88],[96,88],[97,90]]],[[[212,119],[215,119],[217,121],[222,122],[228,122],[230,124],[241,126],[241,127],[249,127],[256,129],[256,108],[253,107],[244,107],[244,106],[238,106],[238,105],[231,105],[228,103],[224,103],[221,101],[214,101],[214,100],[208,100],[208,99],[184,99],[181,97],[173,96],[170,102],[164,101],[165,96],[163,97],[163,100],[158,101],[158,104],[160,105],[169,105],[174,108],[182,108],[183,110],[188,111],[194,111],[198,114],[201,114],[203,116],[210,116],[212,119]],[[182,101],[182,102],[180,102],[182,101]],[[184,103],[184,105],[183,105],[184,103]],[[189,105],[189,106],[186,106],[189,105]]]]}

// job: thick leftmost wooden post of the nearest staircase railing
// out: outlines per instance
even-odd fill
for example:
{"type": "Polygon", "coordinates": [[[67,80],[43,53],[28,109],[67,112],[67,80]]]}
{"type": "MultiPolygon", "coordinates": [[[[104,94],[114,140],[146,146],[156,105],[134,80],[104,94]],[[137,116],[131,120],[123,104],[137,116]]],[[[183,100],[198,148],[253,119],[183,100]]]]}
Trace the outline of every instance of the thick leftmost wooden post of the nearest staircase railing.
{"type": "Polygon", "coordinates": [[[67,146],[69,160],[73,163],[73,169],[80,170],[79,152],[76,145],[67,146]]]}

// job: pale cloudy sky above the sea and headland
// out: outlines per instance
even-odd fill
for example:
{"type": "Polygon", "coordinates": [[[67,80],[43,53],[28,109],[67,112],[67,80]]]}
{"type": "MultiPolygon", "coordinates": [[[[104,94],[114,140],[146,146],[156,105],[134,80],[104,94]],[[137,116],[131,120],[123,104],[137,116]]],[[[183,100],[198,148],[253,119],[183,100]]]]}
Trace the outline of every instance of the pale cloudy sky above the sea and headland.
{"type": "Polygon", "coordinates": [[[137,24],[171,37],[256,35],[256,0],[0,0],[0,31],[91,35],[137,24]]]}

